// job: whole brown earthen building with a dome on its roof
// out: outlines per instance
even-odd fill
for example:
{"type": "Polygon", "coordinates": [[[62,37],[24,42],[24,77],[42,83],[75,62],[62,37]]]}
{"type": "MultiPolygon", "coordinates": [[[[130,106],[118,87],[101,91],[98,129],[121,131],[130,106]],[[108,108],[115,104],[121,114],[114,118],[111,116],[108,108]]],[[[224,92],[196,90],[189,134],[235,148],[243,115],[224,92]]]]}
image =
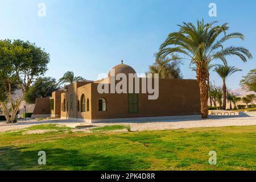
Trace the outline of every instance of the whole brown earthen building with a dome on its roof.
{"type": "MultiPolygon", "coordinates": [[[[114,77],[118,73],[126,76],[129,76],[129,73],[136,73],[126,64],[119,64],[112,70],[115,71],[114,77]]],[[[49,109],[43,110],[49,111],[48,115],[51,117],[88,123],[200,114],[200,92],[196,80],[160,78],[158,98],[148,100],[148,96],[151,95],[149,93],[110,93],[112,77],[109,73],[108,78],[102,80],[79,81],[65,86],[64,90],[53,92],[51,98],[37,100],[35,114],[38,116],[40,109],[48,107],[49,109]],[[109,93],[98,92],[99,84],[102,83],[104,88],[108,86],[109,93]],[[40,106],[41,104],[44,106],[40,106]]],[[[140,90],[144,86],[142,79],[139,78],[140,90]]],[[[117,82],[115,81],[115,84],[117,82]]],[[[134,88],[135,81],[133,90],[134,88]]],[[[42,114],[45,116],[45,113],[42,114]]]]}

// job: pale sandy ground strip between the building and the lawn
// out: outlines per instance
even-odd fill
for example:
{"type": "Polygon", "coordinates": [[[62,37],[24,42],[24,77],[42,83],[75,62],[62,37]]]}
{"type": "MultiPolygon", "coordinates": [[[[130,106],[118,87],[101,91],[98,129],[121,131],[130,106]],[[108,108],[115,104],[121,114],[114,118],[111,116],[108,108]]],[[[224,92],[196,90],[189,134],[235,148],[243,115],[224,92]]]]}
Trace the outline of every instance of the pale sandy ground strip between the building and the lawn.
{"type": "MultiPolygon", "coordinates": [[[[75,129],[75,126],[85,124],[76,121],[67,121],[63,119],[50,119],[46,121],[18,121],[14,124],[0,123],[0,133],[5,131],[15,131],[42,124],[57,124],[59,126],[73,127],[74,131],[88,132],[88,128],[75,129]]],[[[218,117],[209,119],[200,119],[195,117],[192,119],[172,119],[159,120],[159,121],[138,121],[138,122],[113,122],[113,123],[93,123],[94,127],[106,126],[106,125],[130,125],[132,131],[144,131],[144,130],[168,130],[168,129],[188,129],[195,127],[221,127],[221,126],[248,126],[256,125],[256,112],[242,113],[240,116],[235,117],[218,117]]]]}

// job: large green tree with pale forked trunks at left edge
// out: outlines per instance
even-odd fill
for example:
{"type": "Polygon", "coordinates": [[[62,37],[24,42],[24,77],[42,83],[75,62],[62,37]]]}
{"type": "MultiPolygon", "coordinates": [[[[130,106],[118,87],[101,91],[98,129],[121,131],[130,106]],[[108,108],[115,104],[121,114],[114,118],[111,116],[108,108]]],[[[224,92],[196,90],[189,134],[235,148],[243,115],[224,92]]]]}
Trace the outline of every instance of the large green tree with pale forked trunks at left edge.
{"type": "Polygon", "coordinates": [[[22,40],[0,40],[0,104],[7,123],[15,121],[15,115],[23,101],[25,94],[36,77],[47,71],[49,54],[44,49],[30,42],[22,40]],[[13,85],[22,90],[22,96],[14,100],[13,85]],[[5,101],[10,102],[10,112],[5,101]],[[11,115],[11,117],[9,117],[11,115]]]}

